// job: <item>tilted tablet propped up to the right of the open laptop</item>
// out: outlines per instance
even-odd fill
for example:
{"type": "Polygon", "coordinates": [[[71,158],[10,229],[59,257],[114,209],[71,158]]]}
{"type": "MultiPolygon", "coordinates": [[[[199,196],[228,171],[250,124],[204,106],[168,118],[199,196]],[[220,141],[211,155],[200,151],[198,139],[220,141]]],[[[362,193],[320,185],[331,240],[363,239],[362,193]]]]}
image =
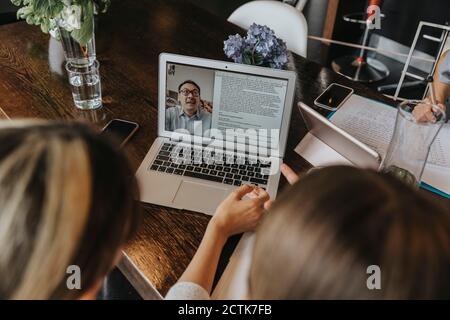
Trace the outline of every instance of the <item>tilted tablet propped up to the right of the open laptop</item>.
{"type": "MultiPolygon", "coordinates": [[[[378,170],[381,157],[375,150],[334,125],[331,121],[305,103],[299,102],[298,107],[309,131],[308,136],[305,137],[306,139],[302,140],[300,146],[303,143],[307,145],[308,149],[320,149],[320,146],[314,146],[314,143],[316,142],[310,138],[312,136],[323,142],[332,150],[338,152],[349,162],[349,164],[360,168],[378,170]]],[[[320,152],[316,150],[315,153],[319,154],[320,152]]],[[[320,161],[323,160],[325,159],[320,161]]],[[[335,160],[335,162],[341,163],[340,160],[335,160]]],[[[312,164],[314,165],[314,163],[312,164]]]]}

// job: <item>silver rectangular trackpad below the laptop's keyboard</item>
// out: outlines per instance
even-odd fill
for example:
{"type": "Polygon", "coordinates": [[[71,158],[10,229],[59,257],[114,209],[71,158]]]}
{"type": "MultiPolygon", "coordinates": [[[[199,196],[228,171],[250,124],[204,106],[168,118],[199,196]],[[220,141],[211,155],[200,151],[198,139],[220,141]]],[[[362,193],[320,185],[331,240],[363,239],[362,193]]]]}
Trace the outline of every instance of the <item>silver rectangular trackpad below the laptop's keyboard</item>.
{"type": "Polygon", "coordinates": [[[213,214],[227,195],[227,189],[182,181],[172,202],[183,209],[213,214]]]}

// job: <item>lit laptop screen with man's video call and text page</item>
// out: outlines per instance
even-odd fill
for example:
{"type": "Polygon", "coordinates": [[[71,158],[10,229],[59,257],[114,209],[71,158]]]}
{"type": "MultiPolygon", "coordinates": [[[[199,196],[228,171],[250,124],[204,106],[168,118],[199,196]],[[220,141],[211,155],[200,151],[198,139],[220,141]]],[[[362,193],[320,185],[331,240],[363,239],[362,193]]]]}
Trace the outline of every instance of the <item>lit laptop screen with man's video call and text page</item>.
{"type": "Polygon", "coordinates": [[[279,134],[287,79],[172,62],[166,71],[166,131],[216,138],[248,131],[279,134]]]}

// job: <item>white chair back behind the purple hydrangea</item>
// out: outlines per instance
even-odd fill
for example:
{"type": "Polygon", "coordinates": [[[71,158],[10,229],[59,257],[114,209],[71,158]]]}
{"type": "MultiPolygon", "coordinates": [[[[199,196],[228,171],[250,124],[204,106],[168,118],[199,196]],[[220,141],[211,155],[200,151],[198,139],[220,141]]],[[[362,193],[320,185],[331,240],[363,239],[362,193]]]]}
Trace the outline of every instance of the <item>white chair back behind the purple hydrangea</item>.
{"type": "Polygon", "coordinates": [[[308,25],[303,13],[293,6],[280,1],[251,1],[237,8],[228,21],[243,29],[252,23],[266,25],[289,50],[306,58],[308,25]]]}

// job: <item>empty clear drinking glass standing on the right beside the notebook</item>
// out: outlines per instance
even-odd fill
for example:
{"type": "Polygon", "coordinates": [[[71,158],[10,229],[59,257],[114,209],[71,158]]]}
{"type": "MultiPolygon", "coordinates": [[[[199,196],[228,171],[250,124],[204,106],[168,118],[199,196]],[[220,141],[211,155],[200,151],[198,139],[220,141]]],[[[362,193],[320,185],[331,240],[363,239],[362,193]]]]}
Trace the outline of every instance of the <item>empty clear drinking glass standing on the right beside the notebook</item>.
{"type": "Polygon", "coordinates": [[[397,110],[394,133],[381,171],[419,186],[431,145],[446,121],[446,114],[426,100],[404,101],[397,110]]]}

